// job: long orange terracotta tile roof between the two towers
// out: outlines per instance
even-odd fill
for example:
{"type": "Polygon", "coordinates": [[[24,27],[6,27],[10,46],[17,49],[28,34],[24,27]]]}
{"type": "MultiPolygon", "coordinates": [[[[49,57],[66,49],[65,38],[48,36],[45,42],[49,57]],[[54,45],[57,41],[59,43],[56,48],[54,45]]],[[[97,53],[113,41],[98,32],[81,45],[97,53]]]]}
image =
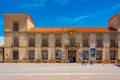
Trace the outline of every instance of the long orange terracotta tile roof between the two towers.
{"type": "Polygon", "coordinates": [[[28,32],[69,32],[69,31],[76,31],[76,32],[116,32],[114,29],[110,28],[30,28],[28,32]]]}

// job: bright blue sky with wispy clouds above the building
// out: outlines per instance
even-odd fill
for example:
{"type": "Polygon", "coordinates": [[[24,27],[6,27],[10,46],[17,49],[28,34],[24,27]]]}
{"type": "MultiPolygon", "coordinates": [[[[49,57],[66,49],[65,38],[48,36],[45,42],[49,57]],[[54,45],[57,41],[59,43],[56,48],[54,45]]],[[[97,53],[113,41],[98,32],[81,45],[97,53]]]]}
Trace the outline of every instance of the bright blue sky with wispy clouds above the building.
{"type": "Polygon", "coordinates": [[[120,0],[0,0],[0,44],[3,14],[29,14],[36,27],[107,27],[120,14],[120,0]]]}

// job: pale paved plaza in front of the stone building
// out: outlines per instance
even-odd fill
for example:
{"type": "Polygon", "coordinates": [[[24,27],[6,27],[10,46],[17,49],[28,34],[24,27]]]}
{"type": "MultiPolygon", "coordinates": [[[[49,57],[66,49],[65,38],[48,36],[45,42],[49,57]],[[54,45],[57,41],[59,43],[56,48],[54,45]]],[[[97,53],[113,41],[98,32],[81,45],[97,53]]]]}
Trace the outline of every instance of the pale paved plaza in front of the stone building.
{"type": "Polygon", "coordinates": [[[0,63],[0,80],[120,80],[115,64],[0,63]]]}

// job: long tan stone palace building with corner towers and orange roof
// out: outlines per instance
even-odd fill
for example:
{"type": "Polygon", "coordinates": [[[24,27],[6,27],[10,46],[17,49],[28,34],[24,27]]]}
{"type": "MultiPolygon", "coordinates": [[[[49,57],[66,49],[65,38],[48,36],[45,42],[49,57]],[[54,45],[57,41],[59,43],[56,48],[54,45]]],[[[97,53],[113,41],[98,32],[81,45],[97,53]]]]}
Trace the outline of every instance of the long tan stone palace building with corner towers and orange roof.
{"type": "Polygon", "coordinates": [[[27,14],[5,14],[6,62],[120,61],[120,15],[108,28],[35,28],[27,14]]]}

